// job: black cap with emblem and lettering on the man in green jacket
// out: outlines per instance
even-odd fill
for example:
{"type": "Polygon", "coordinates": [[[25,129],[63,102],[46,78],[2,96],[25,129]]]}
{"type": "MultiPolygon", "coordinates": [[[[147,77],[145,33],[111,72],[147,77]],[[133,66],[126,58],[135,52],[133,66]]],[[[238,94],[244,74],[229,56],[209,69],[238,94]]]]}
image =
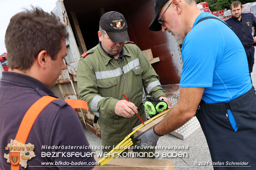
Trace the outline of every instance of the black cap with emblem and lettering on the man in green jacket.
{"type": "Polygon", "coordinates": [[[110,11],[100,17],[100,27],[107,32],[114,43],[130,41],[127,33],[127,22],[119,12],[110,11]]]}

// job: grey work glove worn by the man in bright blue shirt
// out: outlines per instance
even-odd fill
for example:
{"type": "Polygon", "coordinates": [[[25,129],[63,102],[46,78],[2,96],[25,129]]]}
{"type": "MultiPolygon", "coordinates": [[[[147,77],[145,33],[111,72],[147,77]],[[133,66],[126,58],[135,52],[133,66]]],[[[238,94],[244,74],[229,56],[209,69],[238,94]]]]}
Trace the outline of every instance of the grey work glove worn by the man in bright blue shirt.
{"type": "Polygon", "coordinates": [[[141,135],[134,138],[135,140],[141,140],[141,143],[139,146],[143,147],[154,147],[157,144],[157,140],[161,137],[160,135],[157,135],[154,131],[154,129],[151,129],[147,132],[142,133],[141,135]]]}

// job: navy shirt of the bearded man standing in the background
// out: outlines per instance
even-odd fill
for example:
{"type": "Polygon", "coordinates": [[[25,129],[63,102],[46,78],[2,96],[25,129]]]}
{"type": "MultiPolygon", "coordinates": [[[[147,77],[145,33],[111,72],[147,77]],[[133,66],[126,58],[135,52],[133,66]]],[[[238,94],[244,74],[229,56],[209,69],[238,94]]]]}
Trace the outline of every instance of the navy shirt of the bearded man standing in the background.
{"type": "Polygon", "coordinates": [[[252,13],[242,13],[240,21],[231,17],[226,20],[226,23],[234,29],[245,49],[254,44],[253,36],[256,36],[256,18],[252,13]],[[252,26],[254,26],[254,35],[251,33],[252,26]]]}

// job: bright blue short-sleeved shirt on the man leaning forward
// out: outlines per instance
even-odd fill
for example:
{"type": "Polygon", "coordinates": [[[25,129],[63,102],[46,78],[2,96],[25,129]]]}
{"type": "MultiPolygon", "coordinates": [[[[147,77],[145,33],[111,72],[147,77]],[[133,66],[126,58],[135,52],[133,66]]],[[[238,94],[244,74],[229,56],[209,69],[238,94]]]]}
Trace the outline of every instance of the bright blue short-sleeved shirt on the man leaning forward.
{"type": "Polygon", "coordinates": [[[182,45],[180,87],[205,87],[206,103],[229,102],[251,87],[248,62],[238,36],[222,21],[202,12],[182,45]]]}

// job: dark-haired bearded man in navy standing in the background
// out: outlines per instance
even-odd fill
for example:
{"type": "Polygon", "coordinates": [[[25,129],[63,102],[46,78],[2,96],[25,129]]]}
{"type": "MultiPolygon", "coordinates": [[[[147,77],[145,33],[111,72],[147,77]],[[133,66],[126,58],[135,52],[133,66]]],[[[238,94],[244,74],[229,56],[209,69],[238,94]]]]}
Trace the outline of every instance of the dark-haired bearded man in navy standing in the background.
{"type": "Polygon", "coordinates": [[[234,1],[230,6],[232,17],[226,23],[231,26],[236,35],[242,41],[249,65],[249,73],[253,71],[254,64],[254,41],[256,41],[256,17],[252,13],[242,13],[243,7],[241,2],[234,1]],[[252,27],[254,26],[254,35],[252,27]]]}

